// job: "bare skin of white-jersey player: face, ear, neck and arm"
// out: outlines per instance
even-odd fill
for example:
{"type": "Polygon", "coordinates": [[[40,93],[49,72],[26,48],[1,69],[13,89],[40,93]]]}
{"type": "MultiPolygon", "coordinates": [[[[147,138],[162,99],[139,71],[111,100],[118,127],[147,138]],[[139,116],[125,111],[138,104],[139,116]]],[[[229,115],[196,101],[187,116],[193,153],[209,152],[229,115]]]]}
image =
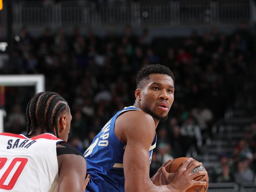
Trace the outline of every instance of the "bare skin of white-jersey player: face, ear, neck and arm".
{"type": "MultiPolygon", "coordinates": [[[[59,138],[64,141],[68,140],[71,119],[70,110],[60,113],[58,116],[59,138]]],[[[52,127],[52,130],[54,130],[53,134],[56,136],[55,127],[52,127]]],[[[40,134],[41,128],[38,127],[31,137],[40,134]]],[[[58,144],[56,147],[63,146],[58,144]]],[[[84,179],[86,177],[86,161],[84,157],[74,154],[63,154],[57,156],[57,160],[59,166],[58,192],[84,192],[90,179],[90,175],[84,179]]]]}

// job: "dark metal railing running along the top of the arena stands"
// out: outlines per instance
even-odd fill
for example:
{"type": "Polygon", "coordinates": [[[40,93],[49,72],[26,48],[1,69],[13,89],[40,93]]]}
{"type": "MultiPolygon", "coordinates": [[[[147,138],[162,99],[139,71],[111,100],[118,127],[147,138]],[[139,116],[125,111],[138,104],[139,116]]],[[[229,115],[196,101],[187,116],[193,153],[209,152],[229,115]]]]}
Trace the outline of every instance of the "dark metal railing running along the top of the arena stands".
{"type": "MultiPolygon", "coordinates": [[[[126,2],[95,4],[67,1],[42,4],[38,1],[13,3],[13,25],[21,26],[104,26],[104,25],[184,25],[252,22],[256,20],[253,0],[170,1],[167,3],[126,2]]],[[[1,11],[5,25],[6,9],[1,11]]]]}

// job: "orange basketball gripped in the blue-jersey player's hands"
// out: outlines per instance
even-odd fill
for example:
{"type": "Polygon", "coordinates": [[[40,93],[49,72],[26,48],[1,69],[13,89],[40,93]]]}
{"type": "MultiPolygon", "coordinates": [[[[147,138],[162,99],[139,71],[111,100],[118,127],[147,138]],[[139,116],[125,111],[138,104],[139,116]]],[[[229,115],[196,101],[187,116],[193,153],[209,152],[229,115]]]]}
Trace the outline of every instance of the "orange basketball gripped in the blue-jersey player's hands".
{"type": "MultiPolygon", "coordinates": [[[[185,161],[186,159],[188,159],[188,157],[180,157],[180,158],[173,159],[170,163],[165,165],[165,170],[169,173],[175,172],[180,167],[180,165],[183,163],[183,161],[185,161]]],[[[193,160],[193,161],[196,161],[196,160],[193,160]]],[[[191,164],[193,161],[191,161],[189,164],[191,164]]],[[[189,167],[189,164],[188,164],[188,167],[189,167]]],[[[195,169],[193,169],[192,172],[195,173],[197,171],[206,171],[206,170],[205,170],[204,166],[201,165],[200,167],[196,167],[195,169]]],[[[206,186],[195,185],[193,187],[188,188],[186,190],[186,192],[205,192],[205,191],[207,191],[208,185],[209,185],[208,174],[200,175],[198,177],[195,177],[193,180],[205,181],[207,184],[206,184],[206,186]]],[[[164,180],[163,180],[162,174],[160,175],[159,183],[160,183],[160,185],[164,185],[164,180]]]]}

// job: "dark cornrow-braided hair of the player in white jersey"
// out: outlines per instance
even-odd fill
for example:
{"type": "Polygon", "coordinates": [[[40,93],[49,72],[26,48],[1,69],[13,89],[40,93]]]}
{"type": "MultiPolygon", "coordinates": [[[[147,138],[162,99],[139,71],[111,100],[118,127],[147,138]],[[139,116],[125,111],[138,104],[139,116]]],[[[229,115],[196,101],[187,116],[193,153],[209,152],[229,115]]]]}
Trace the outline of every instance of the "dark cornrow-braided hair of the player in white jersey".
{"type": "Polygon", "coordinates": [[[52,132],[52,126],[55,126],[56,136],[58,132],[58,116],[60,112],[69,111],[68,102],[55,92],[37,93],[27,105],[27,134],[31,136],[41,127],[41,133],[44,131],[52,132]]]}

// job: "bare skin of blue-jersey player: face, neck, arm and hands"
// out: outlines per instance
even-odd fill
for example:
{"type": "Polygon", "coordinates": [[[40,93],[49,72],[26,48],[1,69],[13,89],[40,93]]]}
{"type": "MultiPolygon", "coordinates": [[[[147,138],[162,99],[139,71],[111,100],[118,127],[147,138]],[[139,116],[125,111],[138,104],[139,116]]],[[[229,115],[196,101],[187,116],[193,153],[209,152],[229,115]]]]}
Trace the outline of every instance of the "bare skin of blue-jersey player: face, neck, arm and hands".
{"type": "Polygon", "coordinates": [[[117,138],[126,144],[124,151],[125,191],[163,191],[184,192],[194,185],[206,185],[203,181],[194,181],[193,178],[205,175],[207,172],[191,171],[201,163],[189,158],[184,161],[174,173],[165,171],[165,164],[156,174],[149,178],[149,148],[155,137],[159,119],[167,116],[174,100],[174,82],[168,75],[151,74],[144,82],[143,88],[135,91],[134,106],[141,110],[127,111],[116,119],[115,133],[117,138]],[[150,115],[149,115],[150,113],[150,115]],[[159,185],[160,173],[164,183],[159,185]]]}

